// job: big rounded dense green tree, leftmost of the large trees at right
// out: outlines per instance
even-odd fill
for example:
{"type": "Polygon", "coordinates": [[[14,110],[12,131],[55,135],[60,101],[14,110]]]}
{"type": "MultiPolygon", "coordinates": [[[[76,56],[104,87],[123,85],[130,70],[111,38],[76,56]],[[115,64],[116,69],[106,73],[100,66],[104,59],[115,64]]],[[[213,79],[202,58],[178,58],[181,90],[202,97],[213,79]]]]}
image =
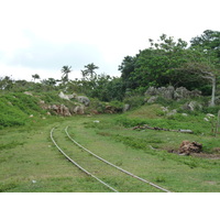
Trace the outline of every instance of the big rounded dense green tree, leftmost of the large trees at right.
{"type": "Polygon", "coordinates": [[[174,41],[163,34],[157,43],[150,40],[151,47],[140,51],[135,57],[124,57],[119,70],[127,88],[144,91],[150,86],[168,86],[174,84],[174,68],[185,62],[187,43],[174,41]]]}

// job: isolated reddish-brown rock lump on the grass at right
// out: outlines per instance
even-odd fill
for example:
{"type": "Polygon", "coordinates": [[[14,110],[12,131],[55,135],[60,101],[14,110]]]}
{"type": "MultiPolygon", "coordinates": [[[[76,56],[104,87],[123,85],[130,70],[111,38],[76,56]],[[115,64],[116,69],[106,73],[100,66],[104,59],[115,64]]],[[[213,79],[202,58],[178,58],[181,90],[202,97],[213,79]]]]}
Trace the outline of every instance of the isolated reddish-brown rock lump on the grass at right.
{"type": "Polygon", "coordinates": [[[197,142],[183,141],[179,147],[179,154],[189,155],[190,153],[200,153],[202,151],[202,145],[197,142]]]}

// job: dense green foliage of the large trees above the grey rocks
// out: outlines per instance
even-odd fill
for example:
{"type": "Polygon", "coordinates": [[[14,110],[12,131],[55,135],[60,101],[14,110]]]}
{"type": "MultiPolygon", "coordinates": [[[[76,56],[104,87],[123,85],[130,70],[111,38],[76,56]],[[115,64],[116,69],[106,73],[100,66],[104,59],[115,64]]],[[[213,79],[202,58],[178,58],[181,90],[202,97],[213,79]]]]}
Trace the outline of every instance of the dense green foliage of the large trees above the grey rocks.
{"type": "Polygon", "coordinates": [[[124,90],[173,85],[210,95],[211,86],[207,79],[219,75],[219,32],[206,31],[201,37],[191,40],[190,47],[182,38],[175,42],[165,34],[160,42],[150,42],[150,48],[122,61],[119,70],[124,90]]]}

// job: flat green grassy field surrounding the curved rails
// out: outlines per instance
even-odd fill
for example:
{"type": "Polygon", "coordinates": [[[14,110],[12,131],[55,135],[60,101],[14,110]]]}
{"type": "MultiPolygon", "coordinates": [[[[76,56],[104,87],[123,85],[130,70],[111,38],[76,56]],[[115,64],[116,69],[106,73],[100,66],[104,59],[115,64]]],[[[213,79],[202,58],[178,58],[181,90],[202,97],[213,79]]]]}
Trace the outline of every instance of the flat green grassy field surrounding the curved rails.
{"type": "Polygon", "coordinates": [[[170,191],[220,191],[220,135],[213,136],[204,116],[180,114],[165,118],[158,106],[144,106],[125,114],[76,116],[36,121],[32,125],[0,130],[0,191],[87,191],[108,193],[96,179],[70,164],[50,139],[79,165],[122,193],[160,189],[131,178],[94,158],[70,142],[64,130],[81,145],[105,160],[170,191]],[[147,123],[162,128],[191,129],[195,134],[132,130],[147,123]],[[204,145],[201,155],[180,156],[168,153],[184,140],[204,145]]]}

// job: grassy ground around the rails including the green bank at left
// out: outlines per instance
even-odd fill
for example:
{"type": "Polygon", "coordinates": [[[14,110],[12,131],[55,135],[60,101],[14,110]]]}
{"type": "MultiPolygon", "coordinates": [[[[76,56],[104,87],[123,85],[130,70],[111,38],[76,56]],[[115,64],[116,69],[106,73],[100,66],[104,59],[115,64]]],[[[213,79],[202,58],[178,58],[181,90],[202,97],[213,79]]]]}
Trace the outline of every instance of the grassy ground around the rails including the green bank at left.
{"type": "MultiPolygon", "coordinates": [[[[186,100],[160,99],[113,114],[109,103],[91,100],[84,114],[63,117],[45,106],[63,105],[70,110],[78,102],[61,99],[57,91],[0,98],[0,191],[109,191],[64,158],[50,138],[53,128],[63,151],[117,190],[160,191],[80,150],[67,139],[67,125],[69,134],[89,151],[170,191],[220,191],[220,134],[212,131],[218,107],[187,111],[182,109],[186,100]],[[106,113],[98,113],[95,107],[106,113]],[[213,118],[206,121],[211,111],[213,118]],[[186,140],[200,143],[202,151],[179,153],[186,140]]],[[[132,99],[127,101],[134,103],[132,99]]]]}

